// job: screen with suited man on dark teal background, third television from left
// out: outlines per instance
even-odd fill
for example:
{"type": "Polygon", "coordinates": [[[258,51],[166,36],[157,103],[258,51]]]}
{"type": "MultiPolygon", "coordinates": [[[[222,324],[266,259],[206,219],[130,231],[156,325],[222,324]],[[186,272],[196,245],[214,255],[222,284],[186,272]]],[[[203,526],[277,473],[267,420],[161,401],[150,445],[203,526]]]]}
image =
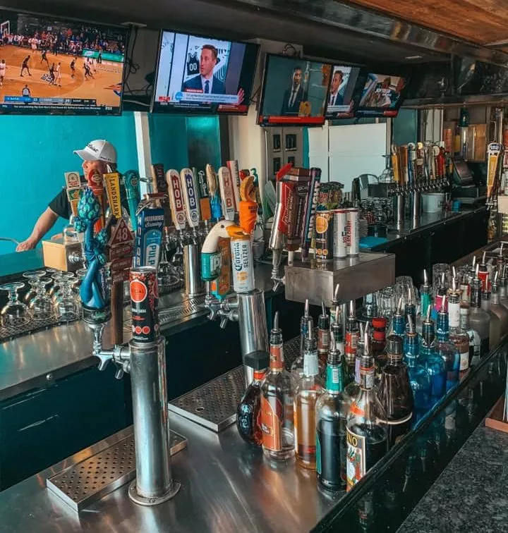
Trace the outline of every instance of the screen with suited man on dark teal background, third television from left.
{"type": "Polygon", "coordinates": [[[327,63],[267,54],[258,123],[324,124],[331,71],[327,63]]]}

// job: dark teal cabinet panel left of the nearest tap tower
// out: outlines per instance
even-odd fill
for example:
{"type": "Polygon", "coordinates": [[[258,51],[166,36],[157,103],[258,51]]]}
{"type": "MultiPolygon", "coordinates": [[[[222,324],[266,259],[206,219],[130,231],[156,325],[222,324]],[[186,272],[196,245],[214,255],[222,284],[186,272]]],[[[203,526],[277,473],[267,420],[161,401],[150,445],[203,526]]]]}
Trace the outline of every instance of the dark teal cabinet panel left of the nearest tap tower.
{"type": "Polygon", "coordinates": [[[126,427],[125,401],[123,381],[110,365],[1,403],[0,489],[126,427]]]}

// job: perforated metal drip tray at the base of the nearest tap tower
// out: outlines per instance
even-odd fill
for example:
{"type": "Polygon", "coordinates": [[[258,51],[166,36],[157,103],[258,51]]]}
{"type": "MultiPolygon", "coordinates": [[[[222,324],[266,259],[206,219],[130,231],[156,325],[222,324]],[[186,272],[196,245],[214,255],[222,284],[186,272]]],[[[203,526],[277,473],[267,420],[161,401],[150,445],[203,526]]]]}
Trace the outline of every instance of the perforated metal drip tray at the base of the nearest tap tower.
{"type": "MultiPolygon", "coordinates": [[[[187,446],[187,439],[169,431],[171,455],[187,446]]],[[[47,488],[79,511],[135,478],[134,435],[76,462],[46,479],[47,488]]]]}

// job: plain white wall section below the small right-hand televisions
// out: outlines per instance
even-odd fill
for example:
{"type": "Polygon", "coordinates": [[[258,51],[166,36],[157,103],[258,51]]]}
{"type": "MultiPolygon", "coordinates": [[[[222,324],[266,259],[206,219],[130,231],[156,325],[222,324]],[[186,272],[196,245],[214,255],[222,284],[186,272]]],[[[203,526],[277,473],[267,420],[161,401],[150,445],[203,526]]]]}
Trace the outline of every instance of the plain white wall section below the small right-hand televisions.
{"type": "Polygon", "coordinates": [[[356,124],[309,128],[310,166],[322,169],[322,181],[344,183],[351,190],[361,174],[379,176],[385,169],[386,124],[356,124]]]}

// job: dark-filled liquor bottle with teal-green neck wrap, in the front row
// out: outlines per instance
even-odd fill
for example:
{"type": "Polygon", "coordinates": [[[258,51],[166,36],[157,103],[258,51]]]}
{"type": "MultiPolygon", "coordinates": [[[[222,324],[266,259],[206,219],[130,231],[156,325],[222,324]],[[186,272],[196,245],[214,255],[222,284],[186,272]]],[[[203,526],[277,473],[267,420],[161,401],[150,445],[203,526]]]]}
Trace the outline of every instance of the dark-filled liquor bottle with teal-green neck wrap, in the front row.
{"type": "Polygon", "coordinates": [[[346,484],[346,417],[349,406],[343,395],[342,369],[342,354],[332,336],[326,388],[315,405],[317,480],[332,491],[346,484]]]}

